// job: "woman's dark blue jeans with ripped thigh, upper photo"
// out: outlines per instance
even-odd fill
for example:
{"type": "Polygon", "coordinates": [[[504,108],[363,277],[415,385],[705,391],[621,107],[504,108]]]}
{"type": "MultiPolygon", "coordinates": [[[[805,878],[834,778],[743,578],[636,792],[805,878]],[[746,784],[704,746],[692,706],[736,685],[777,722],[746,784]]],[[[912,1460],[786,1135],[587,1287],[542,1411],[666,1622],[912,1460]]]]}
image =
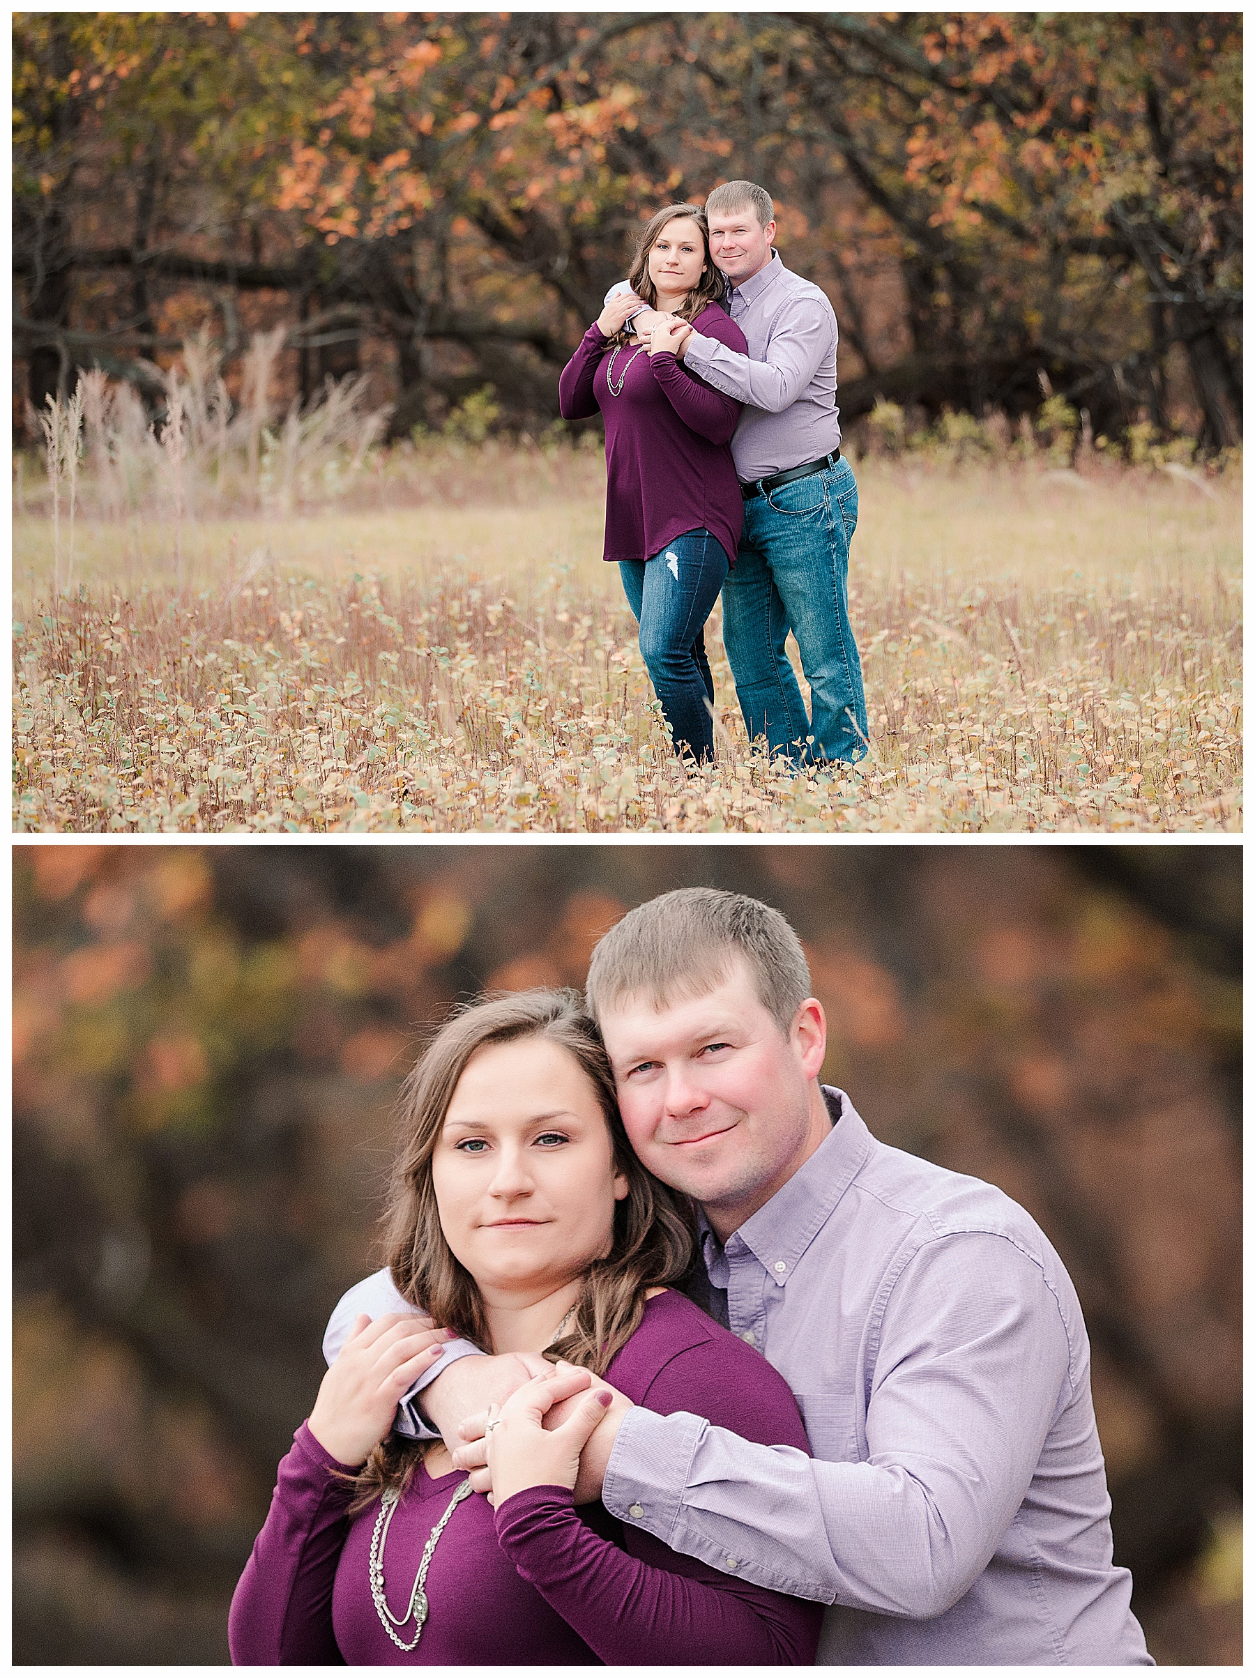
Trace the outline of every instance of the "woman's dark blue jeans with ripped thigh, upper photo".
{"type": "Polygon", "coordinates": [[[703,629],[728,576],[723,544],[710,530],[686,530],[651,559],[621,559],[619,576],[671,742],[681,757],[706,762],[715,755],[715,678],[703,629]]]}

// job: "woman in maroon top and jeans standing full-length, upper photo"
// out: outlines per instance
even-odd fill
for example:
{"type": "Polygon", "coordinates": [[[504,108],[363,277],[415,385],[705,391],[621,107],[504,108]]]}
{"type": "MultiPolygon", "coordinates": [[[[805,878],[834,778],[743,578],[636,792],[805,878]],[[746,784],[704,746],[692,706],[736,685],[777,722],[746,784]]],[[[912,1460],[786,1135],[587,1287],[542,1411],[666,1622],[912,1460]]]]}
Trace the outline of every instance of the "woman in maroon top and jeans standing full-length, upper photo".
{"type": "Polygon", "coordinates": [[[619,562],[641,626],[641,656],[676,752],[713,757],[715,683],[705,623],[742,534],[742,492],[732,463],[740,403],[676,361],[668,329],[644,339],[629,315],[651,309],[747,352],[723,309],[723,275],[710,258],[696,205],[668,205],[641,237],[629,292],[612,297],[562,369],[564,420],[606,418],[606,559],[619,562]]]}

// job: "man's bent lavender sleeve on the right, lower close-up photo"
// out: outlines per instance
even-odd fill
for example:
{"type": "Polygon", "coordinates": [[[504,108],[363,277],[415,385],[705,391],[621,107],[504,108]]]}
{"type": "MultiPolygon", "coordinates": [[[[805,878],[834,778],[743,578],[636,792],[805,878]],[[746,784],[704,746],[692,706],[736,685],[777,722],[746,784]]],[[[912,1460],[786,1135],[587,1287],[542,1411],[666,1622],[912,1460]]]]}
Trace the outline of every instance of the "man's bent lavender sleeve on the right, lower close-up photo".
{"type": "Polygon", "coordinates": [[[866,1460],[817,1462],[634,1408],[606,1507],[686,1556],[735,1556],[743,1577],[775,1591],[911,1619],[945,1613],[993,1556],[1072,1396],[1059,1302],[1010,1240],[941,1237],[898,1277],[876,1368],[888,1373],[869,1394],[866,1460]]]}

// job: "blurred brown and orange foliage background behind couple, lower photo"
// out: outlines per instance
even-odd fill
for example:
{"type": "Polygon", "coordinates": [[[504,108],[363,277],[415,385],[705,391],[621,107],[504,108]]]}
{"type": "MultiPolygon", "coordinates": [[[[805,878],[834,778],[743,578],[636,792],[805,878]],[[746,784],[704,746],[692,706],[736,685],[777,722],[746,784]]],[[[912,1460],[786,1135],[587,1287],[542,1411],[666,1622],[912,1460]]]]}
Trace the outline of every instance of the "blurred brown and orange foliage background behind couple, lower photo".
{"type": "Polygon", "coordinates": [[[18,846],[13,1660],[211,1665],[391,1102],[678,884],[777,904],[829,1081],[1075,1279],[1161,1663],[1242,1660],[1240,847],[18,846]]]}

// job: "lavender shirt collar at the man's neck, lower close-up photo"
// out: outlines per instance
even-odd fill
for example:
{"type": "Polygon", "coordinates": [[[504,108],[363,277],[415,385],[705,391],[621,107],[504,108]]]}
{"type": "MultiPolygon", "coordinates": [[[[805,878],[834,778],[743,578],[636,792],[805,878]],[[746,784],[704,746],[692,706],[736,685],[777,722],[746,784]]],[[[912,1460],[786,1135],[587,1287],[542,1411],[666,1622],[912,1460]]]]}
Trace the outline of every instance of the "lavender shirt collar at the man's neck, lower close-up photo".
{"type": "MultiPolygon", "coordinates": [[[[782,1287],[871,1153],[871,1131],[854,1111],[846,1091],[832,1089],[829,1084],[822,1084],[820,1089],[832,1116],[832,1129],[784,1188],[779,1188],[725,1243],[733,1252],[738,1243],[748,1247],[772,1280],[782,1287]],[[777,1270],[777,1264],[784,1264],[785,1269],[777,1270]]],[[[698,1213],[698,1218],[703,1257],[710,1269],[711,1258],[721,1253],[705,1215],[698,1213]]]]}

